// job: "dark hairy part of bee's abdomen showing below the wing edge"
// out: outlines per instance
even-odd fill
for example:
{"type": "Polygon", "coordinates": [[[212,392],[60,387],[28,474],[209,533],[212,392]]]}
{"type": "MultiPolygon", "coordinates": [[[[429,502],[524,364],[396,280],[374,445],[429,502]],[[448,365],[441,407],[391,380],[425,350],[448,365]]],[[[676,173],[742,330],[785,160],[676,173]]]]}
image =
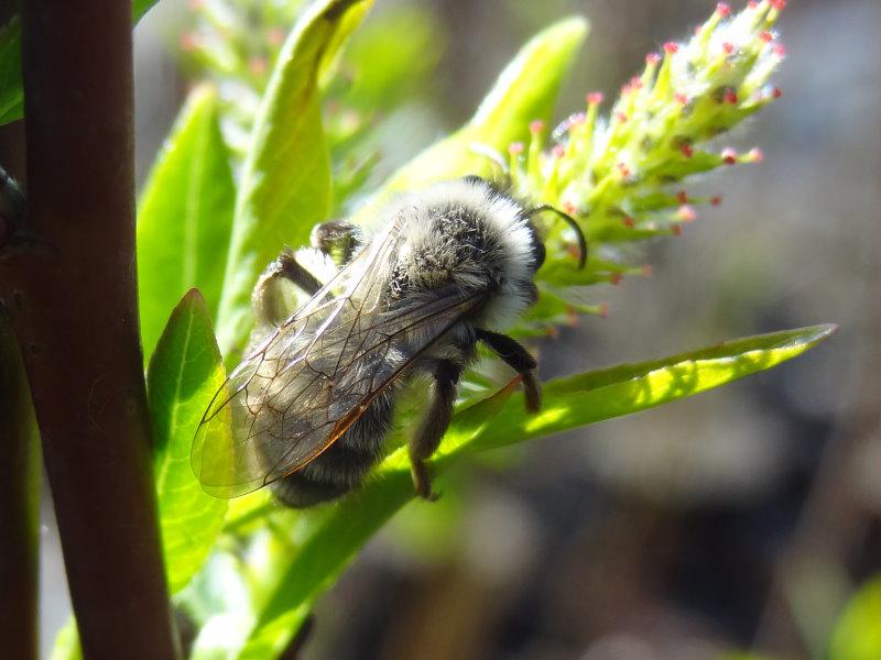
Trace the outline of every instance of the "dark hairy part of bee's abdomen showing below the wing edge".
{"type": "Polygon", "coordinates": [[[274,482],[275,496],[287,506],[305,508],[345,495],[379,461],[391,424],[392,397],[384,393],[318,458],[274,482]]]}

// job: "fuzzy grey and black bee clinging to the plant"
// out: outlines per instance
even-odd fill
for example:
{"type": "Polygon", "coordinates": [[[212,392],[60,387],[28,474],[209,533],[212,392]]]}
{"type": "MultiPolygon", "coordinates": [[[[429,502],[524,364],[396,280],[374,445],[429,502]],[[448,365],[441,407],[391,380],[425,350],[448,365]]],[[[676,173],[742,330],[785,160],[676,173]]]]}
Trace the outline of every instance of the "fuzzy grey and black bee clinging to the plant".
{"type": "Polygon", "coordinates": [[[335,274],[318,265],[326,282],[282,252],[254,289],[248,356],[196,433],[191,458],[203,488],[235,497],[271,484],[298,508],[341,496],[382,457],[404,385],[427,375],[429,402],[409,454],[416,494],[435,498],[426,461],[478,342],[520,374],[526,409],[541,407],[535,359],[501,330],[537,299],[545,248],[532,219],[548,210],[576,230],[584,266],[575,220],[547,206],[527,209],[476,176],[400,196],[371,235],[345,222],[318,226],[315,246],[341,246],[335,274]],[[309,296],[286,317],[280,282],[309,296]]]}

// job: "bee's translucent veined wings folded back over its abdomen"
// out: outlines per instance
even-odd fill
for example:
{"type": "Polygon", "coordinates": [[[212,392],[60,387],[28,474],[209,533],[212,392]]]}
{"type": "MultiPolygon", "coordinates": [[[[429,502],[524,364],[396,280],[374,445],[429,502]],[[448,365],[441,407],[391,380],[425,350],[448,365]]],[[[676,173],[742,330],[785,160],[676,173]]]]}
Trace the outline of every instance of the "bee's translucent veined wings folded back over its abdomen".
{"type": "Polygon", "coordinates": [[[193,443],[207,493],[243,495],[308,463],[474,307],[450,292],[384,309],[401,244],[395,227],[374,239],[230,374],[193,443]]]}

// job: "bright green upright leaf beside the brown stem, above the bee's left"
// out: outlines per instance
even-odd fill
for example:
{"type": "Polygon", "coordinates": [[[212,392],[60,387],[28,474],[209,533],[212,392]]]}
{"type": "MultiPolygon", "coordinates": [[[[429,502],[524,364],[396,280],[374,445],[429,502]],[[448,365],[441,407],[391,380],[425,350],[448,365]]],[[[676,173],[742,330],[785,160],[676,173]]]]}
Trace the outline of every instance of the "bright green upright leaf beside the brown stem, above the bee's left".
{"type": "Polygon", "coordinates": [[[217,94],[199,87],[189,95],[141,196],[138,292],[144,359],[189,288],[197,287],[216,312],[235,199],[217,94]]]}

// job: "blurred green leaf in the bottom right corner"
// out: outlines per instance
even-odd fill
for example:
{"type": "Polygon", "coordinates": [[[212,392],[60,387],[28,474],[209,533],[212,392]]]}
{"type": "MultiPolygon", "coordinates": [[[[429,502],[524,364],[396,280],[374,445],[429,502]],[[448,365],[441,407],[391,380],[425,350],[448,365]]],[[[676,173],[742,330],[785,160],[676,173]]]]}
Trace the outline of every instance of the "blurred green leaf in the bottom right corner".
{"type": "Polygon", "coordinates": [[[881,658],[881,576],[866,583],[836,624],[829,660],[881,658]]]}

